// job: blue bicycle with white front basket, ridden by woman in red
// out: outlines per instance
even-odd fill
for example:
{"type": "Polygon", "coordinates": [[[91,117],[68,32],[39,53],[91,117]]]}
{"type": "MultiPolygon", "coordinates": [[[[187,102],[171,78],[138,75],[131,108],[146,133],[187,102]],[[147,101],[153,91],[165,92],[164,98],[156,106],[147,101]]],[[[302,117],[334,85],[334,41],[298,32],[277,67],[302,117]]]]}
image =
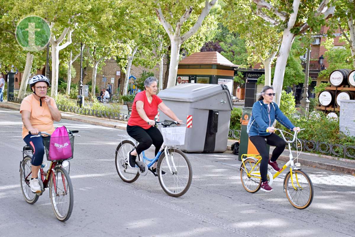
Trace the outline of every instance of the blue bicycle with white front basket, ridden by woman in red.
{"type": "Polygon", "coordinates": [[[174,197],[182,196],[189,190],[192,181],[191,163],[186,155],[178,149],[185,142],[186,127],[171,126],[179,124],[176,121],[172,123],[155,122],[155,124],[163,125],[164,144],[153,159],[146,157],[143,151],[137,157],[135,168],[128,165],[127,154],[137,147],[138,142],[128,135],[119,135],[121,142],[115,152],[117,173],[124,182],[133,183],[140,175],[145,176],[149,170],[154,176],[158,176],[159,183],[166,194],[174,197]],[[151,167],[157,161],[155,173],[151,167]]]}

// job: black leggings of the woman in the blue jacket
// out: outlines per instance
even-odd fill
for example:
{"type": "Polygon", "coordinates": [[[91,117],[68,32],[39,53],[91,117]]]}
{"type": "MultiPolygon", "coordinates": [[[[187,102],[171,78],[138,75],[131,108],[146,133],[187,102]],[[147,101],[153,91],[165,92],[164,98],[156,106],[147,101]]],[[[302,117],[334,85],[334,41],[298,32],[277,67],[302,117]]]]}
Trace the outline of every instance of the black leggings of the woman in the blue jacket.
{"type": "Polygon", "coordinates": [[[261,155],[261,163],[260,163],[260,175],[261,182],[267,181],[267,166],[269,163],[269,152],[266,149],[266,144],[270,146],[276,146],[274,151],[272,152],[271,161],[274,162],[279,158],[281,153],[285,150],[286,142],[280,138],[278,135],[272,133],[268,136],[250,136],[250,141],[254,144],[256,149],[261,155]],[[266,141],[265,141],[266,138],[266,141]]]}

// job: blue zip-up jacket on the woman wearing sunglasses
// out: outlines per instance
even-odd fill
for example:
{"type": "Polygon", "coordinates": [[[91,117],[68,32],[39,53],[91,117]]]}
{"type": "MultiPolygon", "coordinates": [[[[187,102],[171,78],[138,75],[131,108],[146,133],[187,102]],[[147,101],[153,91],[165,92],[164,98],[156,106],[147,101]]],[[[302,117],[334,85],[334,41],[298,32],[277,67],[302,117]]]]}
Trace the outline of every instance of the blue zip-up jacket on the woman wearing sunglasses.
{"type": "Polygon", "coordinates": [[[268,104],[264,104],[262,100],[253,104],[251,118],[247,125],[247,133],[249,136],[267,136],[266,129],[272,127],[275,119],[286,128],[292,130],[295,126],[281,112],[278,105],[272,102],[268,108],[268,104]]]}

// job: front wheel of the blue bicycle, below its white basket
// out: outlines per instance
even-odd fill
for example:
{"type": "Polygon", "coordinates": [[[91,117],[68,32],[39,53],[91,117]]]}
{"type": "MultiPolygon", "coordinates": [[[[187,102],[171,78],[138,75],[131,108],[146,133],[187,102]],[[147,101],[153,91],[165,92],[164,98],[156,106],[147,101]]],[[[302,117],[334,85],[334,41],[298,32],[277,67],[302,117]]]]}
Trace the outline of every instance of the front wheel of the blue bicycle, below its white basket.
{"type": "Polygon", "coordinates": [[[176,149],[168,150],[168,157],[163,152],[157,164],[159,183],[169,196],[179,197],[189,190],[192,181],[192,168],[186,155],[176,149]],[[165,174],[163,175],[163,171],[165,174]]]}

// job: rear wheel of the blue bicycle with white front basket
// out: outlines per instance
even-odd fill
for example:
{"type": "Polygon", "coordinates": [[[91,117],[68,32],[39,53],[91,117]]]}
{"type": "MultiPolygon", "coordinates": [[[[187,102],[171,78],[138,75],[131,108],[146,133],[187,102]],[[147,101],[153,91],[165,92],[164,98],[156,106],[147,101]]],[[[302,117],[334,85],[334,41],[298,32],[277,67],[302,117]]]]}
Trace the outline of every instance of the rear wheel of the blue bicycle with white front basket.
{"type": "Polygon", "coordinates": [[[120,178],[127,182],[133,183],[139,177],[138,169],[131,168],[128,165],[128,152],[132,151],[135,144],[132,141],[125,140],[120,142],[115,152],[116,170],[120,178]]]}

